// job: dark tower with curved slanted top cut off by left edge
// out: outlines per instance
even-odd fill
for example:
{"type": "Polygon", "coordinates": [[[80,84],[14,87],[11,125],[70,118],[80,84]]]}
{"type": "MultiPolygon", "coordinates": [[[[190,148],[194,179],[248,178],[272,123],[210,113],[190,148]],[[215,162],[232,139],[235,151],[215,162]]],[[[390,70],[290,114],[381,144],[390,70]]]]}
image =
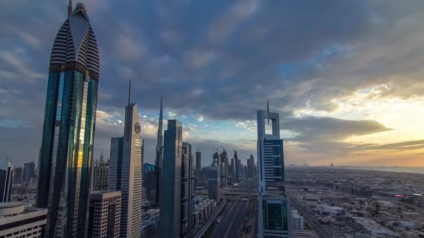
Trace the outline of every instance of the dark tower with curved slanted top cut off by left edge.
{"type": "Polygon", "coordinates": [[[13,164],[8,158],[0,159],[0,203],[10,202],[13,164]]]}

